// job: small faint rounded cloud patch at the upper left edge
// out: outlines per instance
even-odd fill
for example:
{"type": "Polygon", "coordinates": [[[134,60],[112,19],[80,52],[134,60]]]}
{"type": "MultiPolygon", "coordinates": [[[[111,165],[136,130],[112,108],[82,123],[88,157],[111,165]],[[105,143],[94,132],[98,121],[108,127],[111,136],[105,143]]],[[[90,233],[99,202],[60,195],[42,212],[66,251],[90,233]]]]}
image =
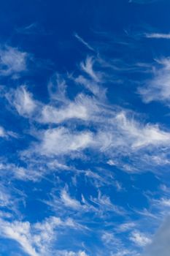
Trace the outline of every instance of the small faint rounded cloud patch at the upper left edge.
{"type": "Polygon", "coordinates": [[[13,75],[13,78],[20,72],[26,71],[28,53],[5,46],[0,48],[0,74],[13,75]]]}

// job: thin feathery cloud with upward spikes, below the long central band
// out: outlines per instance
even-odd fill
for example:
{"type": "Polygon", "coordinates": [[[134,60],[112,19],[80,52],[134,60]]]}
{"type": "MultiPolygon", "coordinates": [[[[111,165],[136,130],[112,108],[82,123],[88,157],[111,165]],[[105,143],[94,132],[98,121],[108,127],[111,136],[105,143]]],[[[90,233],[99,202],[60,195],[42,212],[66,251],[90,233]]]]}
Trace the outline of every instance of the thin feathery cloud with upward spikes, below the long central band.
{"type": "MultiPolygon", "coordinates": [[[[50,206],[50,208],[55,212],[60,214],[60,216],[65,216],[68,213],[73,213],[77,219],[80,219],[82,216],[90,214],[90,216],[98,216],[99,219],[104,219],[109,212],[114,213],[115,215],[124,216],[126,214],[125,210],[121,206],[117,206],[110,200],[109,196],[102,195],[98,190],[98,196],[93,197],[84,197],[81,195],[80,199],[71,195],[69,192],[69,187],[64,187],[58,193],[51,192],[49,200],[43,200],[43,203],[50,206]]],[[[84,225],[78,225],[82,230],[88,230],[88,227],[84,225]]]]}

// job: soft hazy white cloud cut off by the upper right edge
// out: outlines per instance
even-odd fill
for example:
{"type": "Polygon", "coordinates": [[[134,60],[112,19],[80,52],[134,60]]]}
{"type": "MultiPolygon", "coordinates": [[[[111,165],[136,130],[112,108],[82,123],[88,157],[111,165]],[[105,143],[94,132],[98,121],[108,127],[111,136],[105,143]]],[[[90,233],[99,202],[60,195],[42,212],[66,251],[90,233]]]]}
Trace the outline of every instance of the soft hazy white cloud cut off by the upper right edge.
{"type": "Polygon", "coordinates": [[[164,58],[156,61],[157,66],[152,70],[152,79],[146,85],[139,87],[138,93],[144,103],[163,102],[170,105],[170,59],[164,58]]]}

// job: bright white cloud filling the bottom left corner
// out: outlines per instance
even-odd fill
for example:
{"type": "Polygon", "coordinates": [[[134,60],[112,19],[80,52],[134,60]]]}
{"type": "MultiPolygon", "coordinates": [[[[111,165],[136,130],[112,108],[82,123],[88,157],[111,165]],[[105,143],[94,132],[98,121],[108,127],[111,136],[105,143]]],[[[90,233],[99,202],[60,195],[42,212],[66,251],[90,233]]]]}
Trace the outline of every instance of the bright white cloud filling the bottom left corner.
{"type": "Polygon", "coordinates": [[[30,256],[51,255],[50,246],[55,240],[57,227],[77,228],[72,219],[63,222],[58,217],[48,217],[42,222],[31,224],[21,221],[4,221],[0,219],[3,238],[12,239],[20,244],[24,252],[30,256]]]}

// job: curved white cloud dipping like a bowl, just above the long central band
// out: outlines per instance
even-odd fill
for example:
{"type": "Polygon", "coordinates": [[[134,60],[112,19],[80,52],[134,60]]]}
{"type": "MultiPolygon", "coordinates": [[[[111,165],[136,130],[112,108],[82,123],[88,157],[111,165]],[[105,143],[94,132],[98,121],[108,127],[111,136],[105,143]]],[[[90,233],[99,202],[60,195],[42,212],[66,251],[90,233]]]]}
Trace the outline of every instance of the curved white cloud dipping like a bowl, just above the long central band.
{"type": "MultiPolygon", "coordinates": [[[[60,97],[60,93],[57,96],[60,97]]],[[[58,101],[57,96],[53,97],[58,101]]],[[[9,91],[5,97],[20,116],[32,118],[45,124],[59,124],[72,118],[90,121],[99,111],[96,100],[85,94],[77,94],[73,101],[63,96],[64,99],[61,98],[63,102],[58,107],[53,102],[45,105],[36,101],[26,86],[20,86],[16,90],[9,91]]]]}

